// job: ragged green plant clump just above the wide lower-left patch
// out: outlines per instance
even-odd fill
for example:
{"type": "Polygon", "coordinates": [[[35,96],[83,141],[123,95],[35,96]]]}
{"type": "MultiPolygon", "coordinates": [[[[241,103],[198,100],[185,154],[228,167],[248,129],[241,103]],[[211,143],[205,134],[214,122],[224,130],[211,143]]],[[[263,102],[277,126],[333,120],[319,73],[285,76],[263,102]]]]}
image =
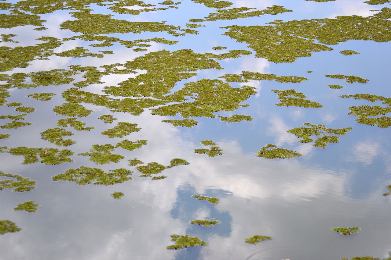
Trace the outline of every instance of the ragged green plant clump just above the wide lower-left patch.
{"type": "Polygon", "coordinates": [[[125,158],[120,154],[113,154],[116,146],[112,144],[93,144],[91,153],[79,153],[78,155],[90,156],[90,160],[96,164],[109,164],[111,162],[119,162],[119,160],[125,158]]]}

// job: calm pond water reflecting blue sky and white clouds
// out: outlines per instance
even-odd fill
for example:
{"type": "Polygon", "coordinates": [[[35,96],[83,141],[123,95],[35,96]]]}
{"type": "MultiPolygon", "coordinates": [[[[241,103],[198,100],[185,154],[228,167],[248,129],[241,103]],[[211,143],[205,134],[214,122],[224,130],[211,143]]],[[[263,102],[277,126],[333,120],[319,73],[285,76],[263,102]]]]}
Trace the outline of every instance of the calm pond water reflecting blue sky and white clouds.
{"type": "MultiPolygon", "coordinates": [[[[158,4],[160,1],[147,1],[158,4]]],[[[190,18],[204,18],[215,12],[190,0],[178,1],[179,8],[142,12],[139,15],[118,14],[106,6],[91,4],[91,13],[115,14],[112,18],[127,21],[167,21],[166,25],[186,28],[190,18]]],[[[328,45],[334,50],[312,53],[312,57],[300,57],[293,63],[273,63],[255,57],[255,51],[248,44],[222,34],[230,25],[265,25],[273,20],[303,20],[313,18],[334,18],[335,16],[371,16],[389,4],[368,5],[364,0],[336,0],[318,3],[304,0],[235,1],[232,7],[255,7],[262,10],[272,5],[283,5],[293,12],[265,15],[235,20],[206,21],[206,27],[194,28],[199,34],[174,37],[166,32],[143,32],[142,34],[107,34],[107,36],[133,41],[164,37],[179,41],[175,45],[150,43],[146,52],[135,52],[118,43],[104,48],[88,46],[97,41],[80,39],[66,41],[54,49],[60,53],[77,46],[90,52],[110,50],[114,54],[97,57],[50,56],[48,60],[30,61],[26,68],[13,68],[3,73],[48,71],[67,69],[67,66],[99,66],[132,61],[150,52],[159,50],[191,49],[196,53],[224,53],[227,50],[248,50],[251,55],[217,62],[224,69],[201,69],[197,75],[177,82],[171,93],[183,88],[185,83],[202,78],[218,79],[225,73],[240,74],[240,71],[271,73],[278,76],[306,77],[301,83],[279,83],[275,81],[250,80],[248,83],[233,82],[233,87],[251,85],[256,94],[243,103],[249,104],[235,111],[220,111],[215,115],[248,115],[252,121],[227,123],[219,118],[190,117],[198,125],[193,128],[174,127],[161,120],[183,119],[179,114],[159,116],[146,108],[140,115],[110,112],[107,107],[81,103],[93,110],[90,116],[79,118],[90,131],[76,131],[71,137],[76,141],[68,147],[59,147],[41,139],[39,133],[57,127],[57,120],[66,116],[56,115],[54,106],[65,102],[61,93],[72,84],[39,86],[36,88],[9,89],[8,102],[20,102],[36,110],[27,114],[24,121],[33,125],[18,129],[1,130],[10,134],[0,140],[8,148],[27,146],[31,148],[70,149],[75,152],[73,162],[57,165],[42,163],[22,164],[23,157],[1,153],[1,171],[19,174],[36,180],[36,189],[29,192],[0,191],[0,220],[13,221],[22,228],[16,233],[0,235],[0,259],[340,259],[353,256],[386,258],[391,251],[391,196],[382,196],[391,185],[391,135],[388,128],[357,124],[356,117],[348,115],[349,107],[358,105],[382,105],[366,100],[340,98],[344,94],[374,94],[391,97],[390,48],[391,43],[349,40],[338,45],[328,45]],[[225,46],[226,50],[212,50],[214,46],[225,46]],[[355,50],[359,55],[344,56],[342,50],[355,50]],[[313,71],[307,73],[307,71],[313,71]],[[325,77],[328,74],[354,75],[369,79],[367,84],[345,83],[341,79],[325,77]],[[342,89],[331,89],[328,84],[343,85],[342,89]],[[277,95],[271,89],[295,89],[302,92],[321,108],[279,107],[277,95]],[[44,102],[27,97],[27,94],[57,93],[52,100],[44,102]],[[97,119],[112,114],[117,121],[105,124],[97,119]],[[137,123],[142,129],[123,138],[109,138],[100,133],[117,125],[117,122],[137,123]],[[330,128],[352,127],[339,143],[328,144],[325,149],[314,147],[313,143],[300,143],[287,130],[301,127],[303,123],[325,124],[330,128]],[[146,139],[148,144],[141,149],[128,151],[117,148],[113,153],[126,158],[118,163],[97,165],[88,156],[77,155],[87,152],[93,144],[117,144],[123,139],[131,141],[146,139]],[[194,149],[205,148],[199,141],[213,140],[223,150],[223,155],[208,157],[194,153],[194,149]],[[256,157],[256,152],[266,144],[275,144],[303,154],[303,157],[289,159],[266,159],[256,157]],[[183,158],[190,164],[166,169],[161,175],[168,177],[152,181],[150,177],[140,178],[136,166],[129,166],[128,159],[138,158],[145,164],[158,162],[164,166],[173,158],[183,158]],[[89,166],[105,171],[126,168],[134,171],[127,182],[115,185],[77,185],[75,182],[52,182],[52,176],[67,169],[89,166]],[[114,199],[111,193],[125,194],[114,199]],[[201,194],[218,197],[220,202],[211,205],[191,196],[201,194]],[[37,212],[14,211],[16,205],[25,201],[36,201],[37,212]],[[213,227],[190,224],[193,219],[215,219],[221,221],[213,227]],[[356,234],[343,236],[333,227],[361,228],[356,234]],[[167,250],[174,244],[170,235],[198,236],[208,246],[167,250]],[[245,243],[246,237],[267,235],[266,240],[252,245],[245,243]]],[[[16,3],[10,1],[10,3],[16,3]]],[[[106,2],[108,4],[108,2],[106,2]]],[[[229,7],[231,8],[231,7],[229,7]]],[[[137,8],[136,8],[137,9],[137,8]]],[[[8,13],[7,10],[2,11],[8,13]]],[[[58,10],[39,14],[46,30],[33,30],[33,25],[2,28],[1,34],[16,34],[14,41],[2,42],[0,46],[33,46],[42,43],[34,39],[51,36],[58,39],[81,35],[60,29],[67,20],[77,20],[69,14],[71,10],[58,10]]],[[[27,12],[29,13],[29,12],[27,12]]],[[[143,47],[142,47],[143,48],[143,47]]],[[[150,61],[150,64],[153,64],[150,61]]],[[[167,66],[170,66],[167,64],[167,66]]],[[[145,73],[145,70],[138,70],[145,73]]],[[[84,80],[83,74],[76,75],[74,82],[84,80]]],[[[116,85],[139,74],[105,75],[102,84],[91,84],[83,91],[104,94],[104,86],[116,85]]],[[[3,84],[6,82],[3,81],[3,84]]],[[[27,83],[30,83],[27,80],[27,83]]],[[[118,97],[116,97],[118,98],[118,97]]],[[[119,97],[121,98],[121,97],[119,97]]],[[[190,99],[190,102],[192,100],[190,99]]],[[[385,105],[382,105],[385,107],[385,105]]],[[[20,114],[15,107],[0,107],[2,115],[20,114]]],[[[4,123],[10,122],[3,120],[4,123]]],[[[4,125],[4,123],[2,123],[4,125]]],[[[316,137],[315,137],[316,138],[316,137]]],[[[314,138],[314,139],[315,139],[314,138]]],[[[206,147],[208,148],[208,147],[206,147]]],[[[4,180],[3,177],[1,180],[4,180]]]]}

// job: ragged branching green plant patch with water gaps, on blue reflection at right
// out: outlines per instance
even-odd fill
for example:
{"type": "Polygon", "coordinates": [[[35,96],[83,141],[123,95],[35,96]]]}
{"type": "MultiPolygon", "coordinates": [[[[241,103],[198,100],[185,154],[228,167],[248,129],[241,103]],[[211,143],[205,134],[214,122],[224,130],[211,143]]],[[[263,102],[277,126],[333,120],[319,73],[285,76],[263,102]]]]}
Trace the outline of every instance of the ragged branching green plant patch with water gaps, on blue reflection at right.
{"type": "Polygon", "coordinates": [[[323,133],[333,134],[323,134],[322,137],[315,140],[314,146],[321,147],[323,149],[325,149],[328,143],[339,142],[339,136],[335,135],[346,135],[350,130],[353,129],[352,127],[332,129],[325,127],[325,125],[312,125],[310,123],[304,123],[304,125],[309,127],[297,127],[288,130],[287,132],[296,135],[298,138],[301,138],[299,142],[302,143],[313,142],[314,139],[310,137],[311,135],[321,135],[323,133]]]}

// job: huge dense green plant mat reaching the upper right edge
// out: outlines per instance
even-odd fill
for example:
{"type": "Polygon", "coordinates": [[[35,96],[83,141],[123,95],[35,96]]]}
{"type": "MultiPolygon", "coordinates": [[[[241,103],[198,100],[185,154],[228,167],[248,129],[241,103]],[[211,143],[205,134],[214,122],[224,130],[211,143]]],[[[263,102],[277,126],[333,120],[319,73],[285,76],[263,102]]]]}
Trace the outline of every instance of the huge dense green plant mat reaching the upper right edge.
{"type": "Polygon", "coordinates": [[[391,9],[384,7],[373,16],[336,16],[336,18],[275,20],[270,25],[226,26],[223,35],[248,44],[256,57],[271,62],[294,62],[298,57],[310,57],[312,52],[333,50],[351,39],[386,42],[391,40],[391,9]]]}

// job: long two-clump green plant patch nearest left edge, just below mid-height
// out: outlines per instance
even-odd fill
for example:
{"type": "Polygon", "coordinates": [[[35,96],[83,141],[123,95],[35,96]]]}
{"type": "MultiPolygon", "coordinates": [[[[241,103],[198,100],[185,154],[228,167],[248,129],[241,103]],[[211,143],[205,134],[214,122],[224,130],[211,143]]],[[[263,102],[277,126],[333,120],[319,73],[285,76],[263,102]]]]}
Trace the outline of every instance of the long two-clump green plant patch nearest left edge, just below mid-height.
{"type": "Polygon", "coordinates": [[[27,148],[25,146],[10,148],[8,152],[12,155],[23,155],[22,164],[32,164],[43,162],[44,164],[62,164],[64,162],[73,162],[69,156],[74,152],[68,149],[59,150],[57,148],[27,148]]]}

